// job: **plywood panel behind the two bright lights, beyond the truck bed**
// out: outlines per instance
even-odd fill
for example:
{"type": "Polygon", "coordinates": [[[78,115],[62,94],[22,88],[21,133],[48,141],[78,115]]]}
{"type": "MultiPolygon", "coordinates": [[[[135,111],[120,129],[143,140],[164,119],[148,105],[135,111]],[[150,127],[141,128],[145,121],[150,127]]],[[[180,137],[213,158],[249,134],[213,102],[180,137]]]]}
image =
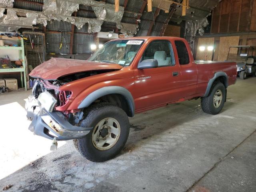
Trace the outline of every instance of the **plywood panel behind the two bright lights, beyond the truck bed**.
{"type": "Polygon", "coordinates": [[[206,50],[208,46],[214,46],[214,37],[212,38],[199,38],[196,50],[196,60],[205,60],[205,54],[207,53],[206,60],[212,60],[213,51],[200,51],[199,47],[205,46],[206,50]]]}

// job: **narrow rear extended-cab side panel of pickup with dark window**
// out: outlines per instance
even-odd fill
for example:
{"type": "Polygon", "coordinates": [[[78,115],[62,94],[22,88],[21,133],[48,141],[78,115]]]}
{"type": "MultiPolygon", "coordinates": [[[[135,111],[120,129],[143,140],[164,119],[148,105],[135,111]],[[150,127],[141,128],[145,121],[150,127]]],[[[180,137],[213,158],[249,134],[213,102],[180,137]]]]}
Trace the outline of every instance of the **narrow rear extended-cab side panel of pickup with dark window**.
{"type": "Polygon", "coordinates": [[[182,40],[175,40],[174,43],[182,76],[180,96],[185,98],[196,94],[198,71],[192,53],[188,53],[189,45],[182,40]]]}

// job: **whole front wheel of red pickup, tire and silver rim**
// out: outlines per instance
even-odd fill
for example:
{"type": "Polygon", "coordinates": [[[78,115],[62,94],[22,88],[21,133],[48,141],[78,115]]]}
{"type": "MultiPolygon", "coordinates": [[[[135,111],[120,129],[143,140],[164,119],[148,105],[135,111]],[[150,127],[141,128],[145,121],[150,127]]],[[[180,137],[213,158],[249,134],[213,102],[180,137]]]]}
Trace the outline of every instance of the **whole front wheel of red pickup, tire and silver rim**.
{"type": "Polygon", "coordinates": [[[92,127],[89,134],[74,140],[82,156],[93,162],[103,162],[116,156],[126,144],[130,132],[128,116],[118,106],[98,103],[85,112],[81,127],[92,127]]]}

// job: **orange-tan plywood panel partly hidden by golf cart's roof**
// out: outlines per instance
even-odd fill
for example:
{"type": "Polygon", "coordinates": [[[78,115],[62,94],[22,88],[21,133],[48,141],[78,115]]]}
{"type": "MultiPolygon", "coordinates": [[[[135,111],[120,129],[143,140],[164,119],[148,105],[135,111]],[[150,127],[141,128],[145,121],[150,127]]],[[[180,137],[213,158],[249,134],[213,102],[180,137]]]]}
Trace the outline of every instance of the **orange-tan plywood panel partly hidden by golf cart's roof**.
{"type": "MultiPolygon", "coordinates": [[[[220,45],[218,48],[218,61],[227,59],[230,46],[238,46],[240,36],[220,37],[220,45]]],[[[231,49],[231,53],[236,53],[237,49],[231,49]]]]}

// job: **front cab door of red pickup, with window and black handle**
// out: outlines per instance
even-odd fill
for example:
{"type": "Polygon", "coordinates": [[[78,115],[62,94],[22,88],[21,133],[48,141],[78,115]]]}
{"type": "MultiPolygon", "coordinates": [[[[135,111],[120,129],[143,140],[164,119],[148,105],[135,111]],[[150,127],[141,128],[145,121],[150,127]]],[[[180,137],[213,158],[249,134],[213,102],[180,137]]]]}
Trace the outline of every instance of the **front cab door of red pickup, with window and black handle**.
{"type": "Polygon", "coordinates": [[[180,66],[175,63],[168,40],[154,40],[144,51],[142,60],[156,59],[157,68],[134,69],[136,111],[166,104],[179,99],[180,66]]]}

